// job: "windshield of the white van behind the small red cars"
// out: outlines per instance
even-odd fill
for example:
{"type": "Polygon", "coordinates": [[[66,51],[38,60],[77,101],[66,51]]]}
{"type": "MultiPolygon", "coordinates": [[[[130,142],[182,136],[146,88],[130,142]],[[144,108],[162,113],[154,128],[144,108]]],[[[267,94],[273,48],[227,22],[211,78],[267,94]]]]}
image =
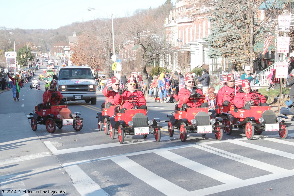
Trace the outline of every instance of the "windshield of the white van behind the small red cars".
{"type": "Polygon", "coordinates": [[[60,69],[59,79],[94,79],[89,68],[65,68],[60,69]]]}

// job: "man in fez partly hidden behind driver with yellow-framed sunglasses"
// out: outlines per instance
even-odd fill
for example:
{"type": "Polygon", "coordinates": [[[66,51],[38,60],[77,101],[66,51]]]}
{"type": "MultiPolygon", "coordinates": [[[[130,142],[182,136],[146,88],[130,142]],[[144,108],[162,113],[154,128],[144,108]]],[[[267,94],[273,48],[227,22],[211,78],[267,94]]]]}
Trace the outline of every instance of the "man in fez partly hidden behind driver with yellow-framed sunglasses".
{"type": "Polygon", "coordinates": [[[110,108],[111,105],[117,105],[114,101],[114,96],[118,93],[119,90],[119,80],[116,76],[111,78],[111,86],[104,88],[102,93],[106,96],[105,108],[110,108]]]}

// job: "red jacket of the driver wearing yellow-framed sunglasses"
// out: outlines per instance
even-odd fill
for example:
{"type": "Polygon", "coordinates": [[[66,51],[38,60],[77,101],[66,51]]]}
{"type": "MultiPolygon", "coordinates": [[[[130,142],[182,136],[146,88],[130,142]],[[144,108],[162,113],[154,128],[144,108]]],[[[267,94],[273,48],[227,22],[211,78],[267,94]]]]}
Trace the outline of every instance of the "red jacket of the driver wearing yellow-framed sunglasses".
{"type": "Polygon", "coordinates": [[[116,94],[116,96],[114,97],[114,101],[116,103],[116,105],[121,105],[121,108],[126,108],[127,110],[132,109],[134,106],[132,103],[128,102],[128,98],[131,96],[137,96],[139,98],[138,102],[136,102],[136,105],[138,105],[139,107],[141,105],[146,105],[146,99],[144,94],[142,93],[142,91],[138,91],[135,90],[134,92],[131,91],[123,91],[123,98],[121,98],[121,95],[116,94]],[[122,100],[123,100],[123,104],[122,104],[122,100]]]}

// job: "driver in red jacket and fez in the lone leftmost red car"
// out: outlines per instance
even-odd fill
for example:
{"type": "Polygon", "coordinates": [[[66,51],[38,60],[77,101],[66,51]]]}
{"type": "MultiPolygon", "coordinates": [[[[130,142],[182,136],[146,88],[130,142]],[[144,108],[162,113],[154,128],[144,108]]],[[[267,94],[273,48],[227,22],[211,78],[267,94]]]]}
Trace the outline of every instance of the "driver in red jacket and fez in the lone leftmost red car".
{"type": "Polygon", "coordinates": [[[56,89],[57,82],[55,80],[51,81],[48,91],[43,93],[43,108],[50,109],[51,105],[65,105],[62,100],[62,94],[56,89]]]}

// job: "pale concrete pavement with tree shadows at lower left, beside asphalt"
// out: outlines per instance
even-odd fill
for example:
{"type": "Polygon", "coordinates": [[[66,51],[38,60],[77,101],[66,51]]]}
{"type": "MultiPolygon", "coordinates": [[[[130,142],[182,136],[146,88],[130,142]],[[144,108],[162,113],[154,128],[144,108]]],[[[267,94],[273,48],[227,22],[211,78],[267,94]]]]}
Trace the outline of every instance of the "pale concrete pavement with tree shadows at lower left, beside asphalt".
{"type": "MultiPolygon", "coordinates": [[[[1,189],[68,188],[73,183],[25,113],[0,114],[1,189]]],[[[42,125],[44,126],[44,125],[42,125]]]]}

